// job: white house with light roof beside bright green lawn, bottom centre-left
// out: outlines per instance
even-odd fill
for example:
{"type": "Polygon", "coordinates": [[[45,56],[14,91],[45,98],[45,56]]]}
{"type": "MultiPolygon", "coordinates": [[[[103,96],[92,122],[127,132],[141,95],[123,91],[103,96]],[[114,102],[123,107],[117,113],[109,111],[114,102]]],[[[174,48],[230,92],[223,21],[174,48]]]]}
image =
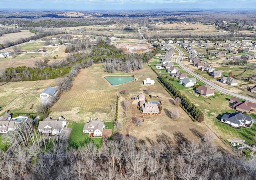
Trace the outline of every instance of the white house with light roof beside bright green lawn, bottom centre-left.
{"type": "Polygon", "coordinates": [[[96,118],[92,120],[90,119],[89,122],[84,124],[83,133],[89,134],[90,137],[92,136],[102,136],[102,131],[105,128],[104,122],[100,121],[100,119],[96,118]]]}

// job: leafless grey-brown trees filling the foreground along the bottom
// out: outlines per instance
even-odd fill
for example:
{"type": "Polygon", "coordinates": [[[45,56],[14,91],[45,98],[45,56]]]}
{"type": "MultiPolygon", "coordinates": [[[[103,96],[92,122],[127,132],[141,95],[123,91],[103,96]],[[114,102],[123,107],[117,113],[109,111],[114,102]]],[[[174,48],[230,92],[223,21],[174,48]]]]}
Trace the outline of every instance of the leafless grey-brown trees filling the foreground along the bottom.
{"type": "Polygon", "coordinates": [[[158,134],[139,140],[114,133],[98,149],[92,141],[77,149],[63,136],[34,136],[32,120],[21,122],[16,131],[5,134],[8,152],[0,150],[3,180],[220,180],[254,179],[255,169],[243,154],[230,156],[212,143],[214,137],[195,129],[198,140],[181,132],[173,137],[158,134]]]}

